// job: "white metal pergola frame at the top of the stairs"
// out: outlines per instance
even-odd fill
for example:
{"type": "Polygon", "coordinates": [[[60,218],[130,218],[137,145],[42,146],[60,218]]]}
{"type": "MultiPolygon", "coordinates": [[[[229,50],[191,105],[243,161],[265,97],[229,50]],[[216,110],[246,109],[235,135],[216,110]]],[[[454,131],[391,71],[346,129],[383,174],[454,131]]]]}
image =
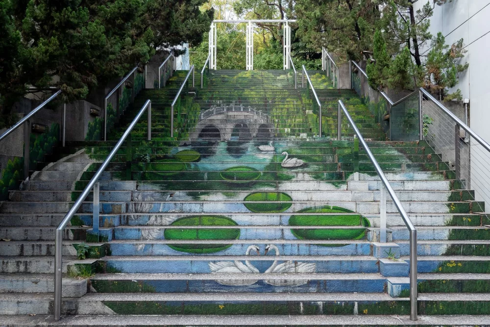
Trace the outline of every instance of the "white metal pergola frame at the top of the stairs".
{"type": "Polygon", "coordinates": [[[253,70],[253,24],[254,23],[284,23],[284,35],[283,35],[283,69],[289,69],[290,63],[287,54],[291,54],[291,26],[289,23],[294,23],[294,19],[215,19],[211,23],[209,30],[209,68],[216,70],[216,49],[217,49],[217,35],[216,24],[218,23],[246,23],[246,60],[245,67],[247,71],[253,70]]]}

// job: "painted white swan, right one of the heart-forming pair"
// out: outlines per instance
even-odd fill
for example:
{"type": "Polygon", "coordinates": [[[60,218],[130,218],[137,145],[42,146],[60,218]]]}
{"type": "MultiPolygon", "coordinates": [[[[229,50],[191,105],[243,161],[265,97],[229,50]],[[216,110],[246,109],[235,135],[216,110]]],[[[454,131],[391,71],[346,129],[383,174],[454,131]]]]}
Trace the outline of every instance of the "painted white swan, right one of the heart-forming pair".
{"type": "MultiPolygon", "coordinates": [[[[280,255],[279,249],[273,245],[269,244],[266,247],[266,253],[270,250],[275,251],[275,255],[280,255]]],[[[278,264],[277,260],[274,260],[269,269],[266,270],[266,274],[311,274],[316,271],[316,263],[303,263],[303,262],[293,262],[286,261],[284,263],[278,264]]],[[[265,283],[273,286],[300,286],[308,283],[308,280],[298,279],[266,279],[265,283]]]]}

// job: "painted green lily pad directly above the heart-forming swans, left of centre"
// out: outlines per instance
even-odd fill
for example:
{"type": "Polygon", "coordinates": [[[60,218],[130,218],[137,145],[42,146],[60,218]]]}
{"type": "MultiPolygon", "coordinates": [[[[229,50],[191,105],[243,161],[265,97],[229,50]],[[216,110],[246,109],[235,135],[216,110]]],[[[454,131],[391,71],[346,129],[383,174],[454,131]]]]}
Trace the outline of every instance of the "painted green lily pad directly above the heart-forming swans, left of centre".
{"type": "MultiPolygon", "coordinates": [[[[224,216],[188,216],[174,221],[171,226],[238,226],[232,219],[224,216]]],[[[166,240],[236,240],[240,228],[167,228],[166,240]]],[[[173,250],[188,253],[213,253],[229,248],[231,244],[176,244],[169,245],[173,250]]]]}

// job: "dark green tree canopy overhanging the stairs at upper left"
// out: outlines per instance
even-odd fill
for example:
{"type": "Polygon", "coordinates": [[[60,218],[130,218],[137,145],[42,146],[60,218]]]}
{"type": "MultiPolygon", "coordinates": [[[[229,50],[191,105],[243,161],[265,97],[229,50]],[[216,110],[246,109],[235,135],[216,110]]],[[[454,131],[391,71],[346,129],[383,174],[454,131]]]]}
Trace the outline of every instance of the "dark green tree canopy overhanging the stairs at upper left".
{"type": "Polygon", "coordinates": [[[204,1],[0,0],[1,120],[28,85],[81,99],[155,52],[199,43],[213,18],[204,1]]]}

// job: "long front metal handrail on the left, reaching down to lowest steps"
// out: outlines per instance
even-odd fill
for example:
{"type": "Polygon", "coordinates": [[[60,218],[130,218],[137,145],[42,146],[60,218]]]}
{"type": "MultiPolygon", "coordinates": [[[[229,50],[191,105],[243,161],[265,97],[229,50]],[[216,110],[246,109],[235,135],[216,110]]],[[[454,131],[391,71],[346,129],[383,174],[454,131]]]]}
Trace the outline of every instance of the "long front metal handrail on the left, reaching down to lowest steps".
{"type": "Polygon", "coordinates": [[[82,194],[78,197],[78,199],[73,203],[72,208],[65,215],[59,226],[56,228],[56,233],[54,236],[54,320],[60,320],[61,318],[61,284],[62,284],[62,267],[63,267],[63,259],[62,259],[62,247],[63,247],[63,230],[68,226],[73,216],[76,214],[83,201],[87,198],[90,191],[94,190],[94,205],[93,205],[93,233],[98,235],[99,228],[99,189],[100,185],[98,179],[105,171],[111,160],[114,158],[116,153],[119,151],[124,141],[127,140],[126,148],[128,149],[128,153],[131,152],[131,131],[134,126],[138,123],[140,118],[143,116],[143,113],[147,110],[148,113],[148,121],[147,121],[147,140],[151,140],[151,101],[147,100],[140,112],[133,119],[131,124],[127,127],[121,139],[118,141],[114,149],[109,153],[104,162],[100,165],[99,169],[89,181],[82,194]]]}

